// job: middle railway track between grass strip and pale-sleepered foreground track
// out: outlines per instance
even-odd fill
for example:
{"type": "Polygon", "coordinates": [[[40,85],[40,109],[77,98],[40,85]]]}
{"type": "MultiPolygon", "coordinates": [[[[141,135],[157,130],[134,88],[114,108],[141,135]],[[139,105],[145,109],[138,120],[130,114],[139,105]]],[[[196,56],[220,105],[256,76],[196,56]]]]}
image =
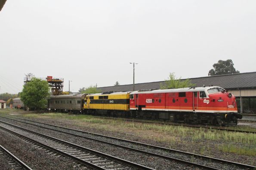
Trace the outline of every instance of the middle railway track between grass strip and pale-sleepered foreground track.
{"type": "Polygon", "coordinates": [[[80,131],[80,130],[65,128],[65,127],[56,126],[56,125],[50,125],[50,124],[31,121],[31,120],[28,120],[28,119],[22,119],[22,118],[18,118],[18,117],[16,117],[16,118],[21,119],[22,121],[10,119],[10,118],[7,118],[7,119],[17,121],[17,122],[23,122],[23,123],[35,125],[35,126],[42,127],[42,128],[47,128],[47,129],[50,129],[50,130],[59,131],[59,132],[62,132],[62,133],[71,134],[71,135],[74,135],[74,136],[77,136],[77,137],[83,137],[83,138],[86,138],[86,139],[95,140],[95,141],[101,142],[101,143],[107,143],[109,145],[122,147],[122,148],[133,150],[133,151],[136,151],[136,152],[142,152],[142,153],[149,154],[149,155],[154,155],[154,156],[164,158],[164,159],[168,159],[168,160],[172,160],[172,161],[179,161],[183,164],[193,165],[195,167],[200,167],[200,168],[203,168],[203,169],[211,169],[211,170],[217,170],[218,168],[219,169],[225,169],[224,167],[227,166],[227,165],[231,166],[230,167],[231,169],[241,169],[241,168],[254,169],[254,168],[256,168],[256,167],[246,165],[246,164],[240,164],[240,163],[236,163],[236,162],[225,161],[225,160],[222,160],[222,159],[211,158],[211,157],[207,157],[207,156],[203,156],[203,155],[197,155],[197,154],[193,154],[193,153],[182,152],[182,151],[178,151],[178,150],[174,150],[174,149],[168,149],[168,148],[163,148],[163,147],[159,147],[159,146],[148,145],[148,144],[145,144],[145,143],[139,143],[139,142],[134,142],[134,141],[130,141],[130,140],[123,140],[123,139],[120,139],[120,138],[109,137],[109,136],[100,135],[100,134],[94,134],[94,133],[90,133],[90,132],[86,132],[86,131],[80,131]],[[38,125],[38,124],[40,124],[40,125],[38,125]],[[52,129],[52,128],[57,128],[59,130],[52,129]],[[71,133],[71,132],[73,132],[73,133],[71,133]],[[74,134],[74,132],[76,132],[76,134],[74,134]],[[77,133],[77,132],[79,132],[79,133],[77,133]],[[87,134],[87,135],[85,136],[84,134],[87,134]],[[95,138],[95,136],[97,136],[97,138],[95,138]],[[98,137],[100,137],[101,139],[99,139],[98,137]],[[120,144],[120,142],[117,142],[117,140],[121,141],[121,144],[120,144]],[[116,144],[116,143],[119,143],[119,144],[116,144]],[[165,152],[165,153],[163,153],[163,152],[165,152]],[[173,158],[172,156],[170,156],[170,155],[173,155],[173,154],[176,155],[176,158],[173,158]],[[182,158],[182,159],[178,159],[177,157],[182,158]],[[193,162],[195,162],[195,160],[193,160],[193,162],[187,161],[187,160],[191,161],[191,158],[199,159],[201,164],[193,163],[193,162]],[[216,167],[218,167],[218,168],[216,168],[216,167]]]}

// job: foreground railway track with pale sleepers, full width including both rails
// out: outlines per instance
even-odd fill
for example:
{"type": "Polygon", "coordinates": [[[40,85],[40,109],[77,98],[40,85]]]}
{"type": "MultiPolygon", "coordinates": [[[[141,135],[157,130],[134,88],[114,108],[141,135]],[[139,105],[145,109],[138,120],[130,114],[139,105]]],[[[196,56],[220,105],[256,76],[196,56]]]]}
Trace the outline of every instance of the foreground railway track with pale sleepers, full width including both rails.
{"type": "Polygon", "coordinates": [[[96,170],[154,170],[130,161],[126,161],[102,152],[97,152],[92,149],[85,148],[73,143],[59,140],[54,137],[40,134],[26,128],[22,128],[8,122],[0,121],[0,128],[15,134],[19,137],[30,140],[43,147],[51,149],[62,155],[73,158],[74,160],[92,167],[96,170]]]}

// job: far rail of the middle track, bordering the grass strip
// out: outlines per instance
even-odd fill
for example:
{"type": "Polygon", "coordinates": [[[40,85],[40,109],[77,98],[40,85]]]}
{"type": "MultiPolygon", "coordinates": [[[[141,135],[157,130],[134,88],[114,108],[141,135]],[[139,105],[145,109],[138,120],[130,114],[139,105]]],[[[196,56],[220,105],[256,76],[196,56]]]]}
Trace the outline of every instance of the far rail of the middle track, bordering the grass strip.
{"type": "MultiPolygon", "coordinates": [[[[10,116],[10,117],[14,117],[14,116],[10,116]]],[[[6,117],[4,117],[4,118],[6,118],[6,117]]],[[[14,118],[22,119],[22,118],[19,118],[19,117],[14,117],[14,118]]],[[[9,119],[9,118],[6,118],[6,119],[9,119]]],[[[14,120],[14,119],[11,119],[11,120],[14,120]]],[[[225,164],[234,164],[238,167],[244,167],[244,168],[249,168],[249,169],[255,169],[256,168],[254,166],[247,165],[247,164],[241,164],[241,163],[237,163],[237,162],[233,162],[233,161],[227,161],[227,160],[223,160],[223,159],[208,157],[208,156],[204,156],[204,155],[198,155],[198,154],[179,151],[179,150],[175,150],[175,149],[164,148],[164,147],[160,147],[160,146],[154,146],[154,145],[150,145],[150,144],[135,142],[135,141],[132,141],[132,140],[125,140],[125,139],[121,139],[121,138],[117,138],[117,137],[111,137],[111,136],[106,136],[106,135],[102,135],[102,134],[96,134],[96,133],[91,133],[91,132],[87,132],[87,131],[81,131],[81,130],[77,130],[77,129],[73,129],[73,128],[66,128],[66,127],[62,127],[62,126],[51,125],[51,124],[37,122],[37,121],[33,121],[33,120],[28,120],[28,119],[22,119],[22,120],[35,122],[35,123],[40,123],[40,124],[43,124],[43,125],[49,125],[49,126],[53,126],[53,127],[56,127],[56,128],[63,128],[63,129],[67,129],[67,130],[78,131],[78,132],[82,132],[82,133],[86,133],[86,134],[93,134],[93,135],[100,136],[100,137],[107,137],[107,138],[114,139],[114,140],[120,140],[120,141],[124,141],[124,142],[128,142],[128,143],[133,143],[133,144],[136,144],[136,145],[150,147],[150,148],[153,148],[153,149],[161,149],[161,150],[164,150],[164,151],[167,151],[167,152],[177,152],[177,153],[182,153],[182,154],[185,154],[185,155],[191,155],[191,156],[197,157],[197,158],[204,158],[206,160],[222,162],[222,163],[225,163],[225,164]]],[[[18,120],[15,120],[15,121],[18,121],[18,120]]],[[[21,122],[21,121],[18,121],[18,122],[21,122]]],[[[23,122],[23,123],[27,123],[27,122],[23,122]]],[[[31,124],[31,125],[34,125],[34,124],[31,124]]],[[[39,125],[36,125],[36,126],[39,126],[39,125]]],[[[46,128],[46,127],[43,127],[43,128],[46,128]]],[[[51,128],[48,128],[48,129],[51,129],[51,128]]],[[[51,130],[53,130],[53,129],[51,129],[51,130]]],[[[59,131],[59,130],[56,130],[56,131],[59,131]]],[[[69,133],[69,132],[65,132],[65,131],[60,131],[60,132],[69,133]]],[[[77,135],[77,134],[73,134],[73,135],[77,135]]],[[[77,136],[80,136],[80,135],[77,135],[77,136]]],[[[83,136],[81,136],[81,137],[83,137],[83,136]]],[[[96,140],[96,139],[93,139],[93,138],[90,138],[90,139],[96,140]]],[[[102,141],[102,140],[100,140],[100,141],[102,141]]],[[[102,142],[104,142],[104,141],[102,141],[102,142]]],[[[111,144],[114,145],[114,143],[111,143],[111,144]]],[[[125,146],[122,146],[122,147],[125,147],[125,146]]],[[[141,151],[141,150],[139,150],[139,151],[141,151]]],[[[142,152],[144,152],[144,151],[142,151],[142,152]]],[[[149,153],[151,153],[151,152],[149,152],[149,153]]],[[[161,156],[163,156],[163,155],[161,155],[161,156]]]]}

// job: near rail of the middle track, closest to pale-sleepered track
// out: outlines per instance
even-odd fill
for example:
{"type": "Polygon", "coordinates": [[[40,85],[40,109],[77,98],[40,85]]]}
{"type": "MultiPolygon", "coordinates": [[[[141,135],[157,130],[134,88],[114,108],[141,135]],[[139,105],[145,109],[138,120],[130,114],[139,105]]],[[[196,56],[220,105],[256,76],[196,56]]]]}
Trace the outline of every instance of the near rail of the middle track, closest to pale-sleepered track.
{"type": "MultiPolygon", "coordinates": [[[[6,118],[6,119],[9,119],[9,118],[6,118]]],[[[17,122],[22,122],[22,121],[15,120],[15,119],[10,119],[10,120],[14,120],[14,121],[17,121],[17,122]]],[[[46,129],[53,130],[53,131],[59,131],[59,132],[65,133],[65,134],[71,134],[73,136],[82,137],[82,138],[86,138],[86,139],[89,139],[89,140],[95,140],[97,142],[106,143],[106,144],[109,144],[109,145],[113,145],[113,146],[129,149],[129,150],[133,150],[133,151],[136,151],[136,152],[142,152],[142,153],[145,153],[145,154],[148,154],[148,155],[157,156],[157,157],[160,157],[160,158],[181,162],[183,164],[193,165],[195,167],[201,167],[201,168],[204,168],[204,169],[207,169],[207,170],[219,170],[219,169],[214,168],[214,167],[209,167],[209,166],[196,164],[196,163],[189,162],[189,161],[184,161],[184,160],[177,159],[177,158],[172,158],[172,157],[169,157],[169,156],[156,154],[156,153],[153,153],[153,152],[147,152],[147,151],[143,151],[143,150],[139,150],[139,149],[123,146],[123,145],[118,145],[118,144],[115,144],[115,143],[110,143],[110,142],[106,142],[106,141],[103,141],[103,140],[94,139],[94,138],[91,138],[91,137],[85,137],[85,136],[82,136],[82,135],[79,135],[79,134],[73,134],[73,133],[66,132],[66,131],[60,131],[60,130],[56,130],[56,129],[52,129],[52,128],[47,128],[47,127],[43,127],[43,126],[40,126],[40,125],[35,125],[35,124],[32,124],[32,123],[28,123],[28,122],[22,122],[22,123],[26,123],[26,124],[29,124],[29,125],[34,125],[34,126],[41,127],[41,128],[46,128],[46,129]]]]}

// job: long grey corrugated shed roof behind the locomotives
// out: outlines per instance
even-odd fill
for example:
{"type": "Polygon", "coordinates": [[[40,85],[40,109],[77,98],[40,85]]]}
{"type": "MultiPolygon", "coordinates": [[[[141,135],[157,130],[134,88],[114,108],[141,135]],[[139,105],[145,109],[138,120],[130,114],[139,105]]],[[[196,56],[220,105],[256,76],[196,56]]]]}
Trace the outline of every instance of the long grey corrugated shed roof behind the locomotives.
{"type": "MultiPolygon", "coordinates": [[[[216,75],[201,78],[189,78],[191,83],[196,84],[197,87],[201,86],[220,86],[224,89],[253,89],[256,88],[256,72],[237,73],[231,75],[216,75]]],[[[185,80],[185,79],[183,79],[185,80]]],[[[164,81],[139,83],[135,84],[135,90],[139,89],[160,89],[160,84],[164,81]]],[[[106,86],[98,87],[97,89],[102,92],[123,92],[133,91],[133,84],[120,85],[120,86],[106,86]]]]}

